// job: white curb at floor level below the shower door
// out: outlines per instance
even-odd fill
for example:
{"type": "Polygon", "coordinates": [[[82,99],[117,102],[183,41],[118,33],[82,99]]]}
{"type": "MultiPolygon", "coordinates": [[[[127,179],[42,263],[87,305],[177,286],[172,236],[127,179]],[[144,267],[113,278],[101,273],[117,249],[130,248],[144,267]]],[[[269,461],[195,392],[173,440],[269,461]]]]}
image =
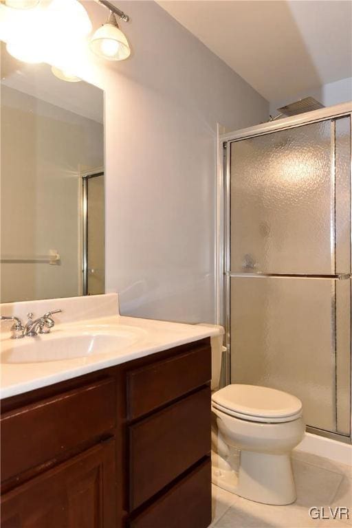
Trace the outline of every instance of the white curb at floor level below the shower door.
{"type": "Polygon", "coordinates": [[[330,459],[340,464],[352,465],[351,444],[320,437],[318,434],[311,434],[311,432],[305,433],[303,441],[297,445],[296,450],[324,456],[325,459],[330,459]]]}

